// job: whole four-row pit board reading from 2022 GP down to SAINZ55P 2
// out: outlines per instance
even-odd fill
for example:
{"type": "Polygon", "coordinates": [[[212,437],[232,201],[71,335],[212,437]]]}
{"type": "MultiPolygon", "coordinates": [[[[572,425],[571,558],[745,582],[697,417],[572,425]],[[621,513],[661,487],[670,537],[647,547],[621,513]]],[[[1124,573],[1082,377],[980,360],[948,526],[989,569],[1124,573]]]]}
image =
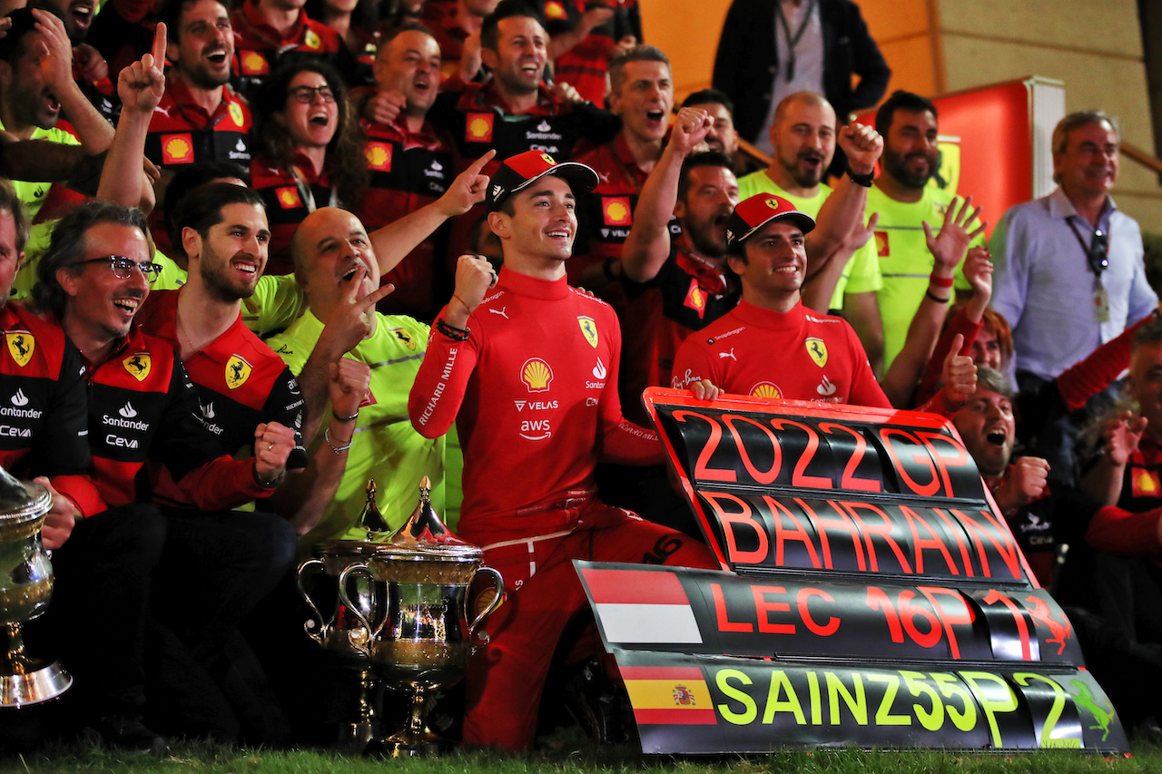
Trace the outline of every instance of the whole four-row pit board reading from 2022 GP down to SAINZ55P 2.
{"type": "Polygon", "coordinates": [[[651,388],[724,568],[575,562],[644,752],[1125,751],[955,429],[651,388]]]}

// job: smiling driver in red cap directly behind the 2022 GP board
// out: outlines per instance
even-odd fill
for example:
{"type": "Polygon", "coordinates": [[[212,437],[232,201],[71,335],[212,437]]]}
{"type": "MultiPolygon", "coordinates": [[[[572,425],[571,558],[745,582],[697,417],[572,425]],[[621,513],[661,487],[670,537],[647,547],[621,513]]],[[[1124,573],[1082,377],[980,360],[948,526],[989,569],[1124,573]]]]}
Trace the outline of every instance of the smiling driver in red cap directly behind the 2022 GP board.
{"type": "Polygon", "coordinates": [[[855,331],[803,307],[806,234],[815,220],[786,199],[741,201],[727,223],[727,260],[743,301],[677,351],[673,386],[706,379],[726,393],[891,408],[855,331]]]}

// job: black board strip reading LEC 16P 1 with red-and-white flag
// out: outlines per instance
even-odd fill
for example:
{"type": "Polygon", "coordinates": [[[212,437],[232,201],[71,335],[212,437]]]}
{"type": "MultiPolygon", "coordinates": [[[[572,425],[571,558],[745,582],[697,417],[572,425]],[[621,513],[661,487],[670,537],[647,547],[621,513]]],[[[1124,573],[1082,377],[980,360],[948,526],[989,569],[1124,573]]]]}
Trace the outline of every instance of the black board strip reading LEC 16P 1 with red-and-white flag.
{"type": "Polygon", "coordinates": [[[574,561],[609,650],[754,658],[1082,661],[1041,589],[961,590],[574,561]]]}

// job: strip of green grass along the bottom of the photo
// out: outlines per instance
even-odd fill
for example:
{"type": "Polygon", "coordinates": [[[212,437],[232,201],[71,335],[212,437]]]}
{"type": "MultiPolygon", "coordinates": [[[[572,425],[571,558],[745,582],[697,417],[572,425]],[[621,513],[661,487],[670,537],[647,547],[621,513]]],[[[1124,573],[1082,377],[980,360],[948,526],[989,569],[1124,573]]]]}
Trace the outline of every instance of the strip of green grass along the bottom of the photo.
{"type": "Polygon", "coordinates": [[[627,745],[597,747],[575,732],[561,732],[522,754],[456,751],[445,755],[383,761],[325,751],[237,750],[210,744],[174,745],[165,758],[119,755],[93,745],[67,745],[0,758],[0,773],[56,774],[1070,774],[1073,772],[1162,772],[1162,746],[1139,740],[1129,759],[1084,753],[1023,755],[937,751],[866,752],[787,750],[770,755],[722,758],[646,757],[627,745]]]}

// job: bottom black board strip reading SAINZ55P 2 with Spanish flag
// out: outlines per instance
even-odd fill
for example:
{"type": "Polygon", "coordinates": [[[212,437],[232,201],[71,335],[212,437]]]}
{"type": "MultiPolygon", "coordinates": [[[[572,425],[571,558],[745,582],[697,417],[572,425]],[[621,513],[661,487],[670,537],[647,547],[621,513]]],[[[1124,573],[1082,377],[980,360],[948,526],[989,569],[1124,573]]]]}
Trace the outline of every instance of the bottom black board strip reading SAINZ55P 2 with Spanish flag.
{"type": "Polygon", "coordinates": [[[786,745],[961,750],[1127,748],[1084,669],[913,668],[615,655],[647,753],[786,745]]]}

